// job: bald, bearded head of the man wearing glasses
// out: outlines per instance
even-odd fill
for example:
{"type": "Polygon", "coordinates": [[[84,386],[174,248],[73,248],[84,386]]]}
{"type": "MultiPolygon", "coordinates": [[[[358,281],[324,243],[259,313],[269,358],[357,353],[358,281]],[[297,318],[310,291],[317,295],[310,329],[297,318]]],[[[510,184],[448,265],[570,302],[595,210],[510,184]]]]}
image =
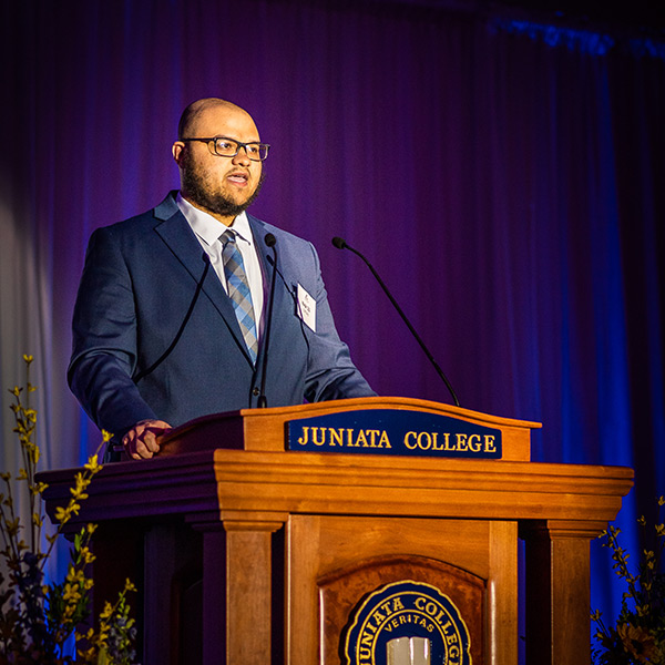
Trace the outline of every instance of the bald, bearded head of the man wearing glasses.
{"type": "Polygon", "coordinates": [[[254,120],[246,111],[231,102],[207,98],[184,110],[172,152],[181,172],[182,195],[229,225],[258,195],[263,164],[250,160],[245,147],[241,147],[237,155],[225,157],[215,153],[212,141],[191,141],[215,136],[241,143],[260,141],[254,120]]]}

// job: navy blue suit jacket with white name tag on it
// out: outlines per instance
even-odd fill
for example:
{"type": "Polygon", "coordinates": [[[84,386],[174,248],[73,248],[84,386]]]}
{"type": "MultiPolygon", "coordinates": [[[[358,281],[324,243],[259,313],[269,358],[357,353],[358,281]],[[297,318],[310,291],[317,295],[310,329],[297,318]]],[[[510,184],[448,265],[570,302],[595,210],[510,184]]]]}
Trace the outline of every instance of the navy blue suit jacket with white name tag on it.
{"type": "MultiPolygon", "coordinates": [[[[269,407],[375,395],[339,339],[314,246],[248,215],[264,279],[267,233],[277,239],[277,279],[266,396],[269,407]],[[300,284],[316,299],[316,332],[297,316],[300,284]]],[[[173,352],[137,385],[174,339],[205,268],[203,249],[175,203],[96,229],[73,317],[70,387],[100,427],[122,436],[144,419],[173,427],[256,406],[263,348],[253,366],[222,283],[208,270],[173,352]]]]}

